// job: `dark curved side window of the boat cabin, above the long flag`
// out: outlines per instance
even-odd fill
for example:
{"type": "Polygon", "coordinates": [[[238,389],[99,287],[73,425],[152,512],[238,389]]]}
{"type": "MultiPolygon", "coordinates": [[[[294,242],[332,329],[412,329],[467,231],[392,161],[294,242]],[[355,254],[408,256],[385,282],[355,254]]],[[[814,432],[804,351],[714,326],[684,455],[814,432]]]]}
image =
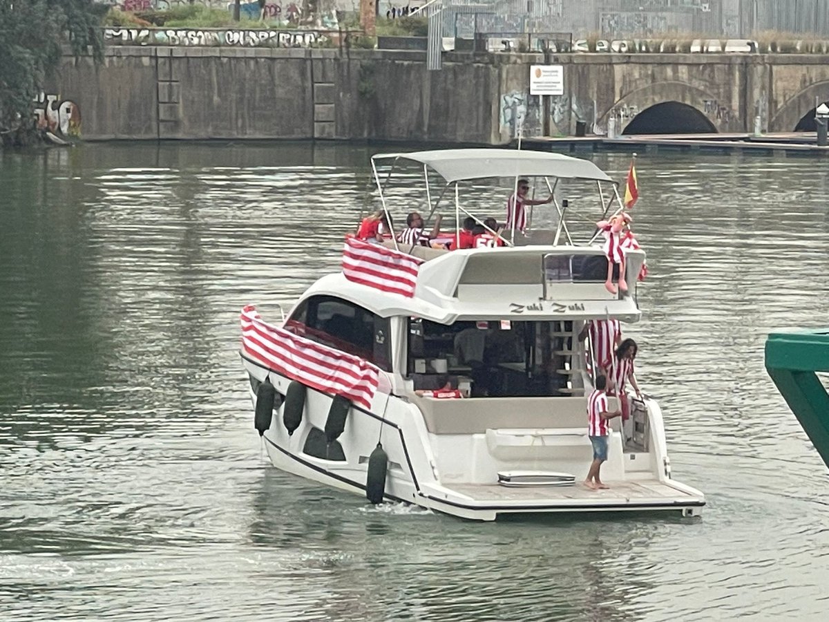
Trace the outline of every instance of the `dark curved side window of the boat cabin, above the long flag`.
{"type": "Polygon", "coordinates": [[[350,300],[311,296],[293,310],[284,328],[391,371],[389,318],[381,318],[350,300]]]}

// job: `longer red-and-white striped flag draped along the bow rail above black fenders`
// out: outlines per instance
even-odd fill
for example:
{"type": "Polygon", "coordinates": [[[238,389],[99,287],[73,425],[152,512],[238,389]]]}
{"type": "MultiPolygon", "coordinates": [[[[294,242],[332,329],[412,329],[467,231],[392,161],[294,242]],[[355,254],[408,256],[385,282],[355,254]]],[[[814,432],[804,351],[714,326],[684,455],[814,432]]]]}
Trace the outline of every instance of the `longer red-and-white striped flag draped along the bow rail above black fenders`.
{"type": "Polygon", "coordinates": [[[242,350],[303,385],[371,407],[380,370],[370,362],[265,323],[256,307],[242,309],[242,350]]]}

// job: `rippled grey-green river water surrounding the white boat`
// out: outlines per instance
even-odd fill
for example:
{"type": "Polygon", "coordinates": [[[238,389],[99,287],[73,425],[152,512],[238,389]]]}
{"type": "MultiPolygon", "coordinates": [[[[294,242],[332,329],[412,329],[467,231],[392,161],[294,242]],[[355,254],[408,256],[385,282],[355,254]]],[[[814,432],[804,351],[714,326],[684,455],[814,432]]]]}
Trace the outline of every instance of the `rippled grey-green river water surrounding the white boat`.
{"type": "Polygon", "coordinates": [[[829,323],[824,161],[638,159],[629,333],[703,516],[480,524],[283,474],[253,429],[239,310],[337,270],[371,151],[0,153],[0,618],[822,620],[829,478],[763,346],[829,323]]]}

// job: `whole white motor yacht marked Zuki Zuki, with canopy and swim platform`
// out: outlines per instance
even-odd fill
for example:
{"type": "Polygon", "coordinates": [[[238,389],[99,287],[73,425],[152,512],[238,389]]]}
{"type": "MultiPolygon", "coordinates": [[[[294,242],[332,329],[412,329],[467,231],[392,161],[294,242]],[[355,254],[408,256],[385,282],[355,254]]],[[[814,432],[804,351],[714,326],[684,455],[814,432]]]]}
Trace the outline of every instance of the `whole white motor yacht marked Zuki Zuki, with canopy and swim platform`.
{"type": "MultiPolygon", "coordinates": [[[[501,247],[461,250],[435,241],[404,246],[390,237],[382,245],[422,260],[410,297],[342,272],[312,284],[281,330],[376,369],[376,391],[363,403],[324,381],[303,381],[298,358],[274,365],[245,346],[243,312],[241,354],[255,425],[272,462],[375,503],[414,503],[477,520],[701,513],[703,494],[671,476],[662,411],[648,396],[631,393],[628,419],[610,420],[602,466],[608,488],[583,484],[593,459],[587,404],[598,345],[581,338],[583,329],[592,320],[633,323],[641,316],[636,286],[644,252],[628,252],[628,292],[613,294],[605,286],[608,259],[596,242],[596,221],[623,211],[617,184],[579,158],[506,149],[376,155],[371,164],[386,214],[390,179],[408,172],[410,180],[414,168],[426,186],[427,223],[442,210],[454,216],[450,240],[458,240],[464,218],[485,222],[464,205],[462,185],[503,214],[504,193],[487,191],[482,180],[508,180],[513,189],[519,178],[534,180],[555,197],[536,207],[536,223],[550,226],[491,230],[501,247]],[[439,192],[430,188],[435,177],[439,192]],[[595,197],[586,198],[584,187],[595,197]],[[570,201],[560,200],[565,192],[570,201]],[[441,389],[455,397],[441,399],[441,389]]],[[[404,215],[418,205],[411,197],[404,215]]],[[[617,406],[610,397],[610,410],[617,406]]]]}

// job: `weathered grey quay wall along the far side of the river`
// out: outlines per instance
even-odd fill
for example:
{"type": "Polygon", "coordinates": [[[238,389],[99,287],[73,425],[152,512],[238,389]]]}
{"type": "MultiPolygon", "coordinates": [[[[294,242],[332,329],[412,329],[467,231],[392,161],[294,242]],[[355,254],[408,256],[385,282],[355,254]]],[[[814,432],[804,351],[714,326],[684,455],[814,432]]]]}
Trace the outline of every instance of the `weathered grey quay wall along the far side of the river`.
{"type": "Polygon", "coordinates": [[[602,134],[667,101],[720,132],[793,131],[829,100],[829,56],[488,54],[310,47],[107,46],[65,56],[36,113],[57,134],[105,139],[369,139],[503,144],[602,134]],[[530,95],[530,66],[563,66],[565,94],[530,95]]]}

